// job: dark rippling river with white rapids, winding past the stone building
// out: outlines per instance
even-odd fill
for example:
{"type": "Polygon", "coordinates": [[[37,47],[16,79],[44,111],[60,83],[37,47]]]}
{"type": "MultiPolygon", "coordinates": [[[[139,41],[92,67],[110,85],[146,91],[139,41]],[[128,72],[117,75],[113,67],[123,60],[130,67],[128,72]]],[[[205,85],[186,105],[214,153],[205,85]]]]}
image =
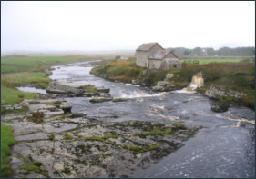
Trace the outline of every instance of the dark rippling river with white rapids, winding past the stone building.
{"type": "Polygon", "coordinates": [[[200,94],[152,93],[144,87],[106,81],[90,75],[86,63],[54,66],[49,77],[58,82],[76,82],[110,88],[113,97],[128,97],[128,102],[90,103],[86,97],[66,98],[72,113],[88,116],[119,116],[115,121],[175,121],[200,125],[199,133],[175,153],[159,163],[138,171],[133,177],[152,178],[230,178],[255,177],[255,112],[246,107],[230,108],[225,113],[210,110],[215,103],[200,94]]]}

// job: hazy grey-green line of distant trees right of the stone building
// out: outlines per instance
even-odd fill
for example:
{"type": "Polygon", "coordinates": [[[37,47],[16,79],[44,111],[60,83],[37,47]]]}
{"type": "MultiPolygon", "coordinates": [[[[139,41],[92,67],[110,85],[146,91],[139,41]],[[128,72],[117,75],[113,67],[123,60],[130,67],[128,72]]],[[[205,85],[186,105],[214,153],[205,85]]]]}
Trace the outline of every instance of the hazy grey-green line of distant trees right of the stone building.
{"type": "Polygon", "coordinates": [[[255,51],[255,46],[246,46],[246,47],[235,47],[230,48],[227,46],[221,47],[218,50],[215,50],[212,47],[195,47],[195,48],[185,48],[185,47],[169,47],[176,55],[195,55],[195,56],[253,56],[255,51]]]}

